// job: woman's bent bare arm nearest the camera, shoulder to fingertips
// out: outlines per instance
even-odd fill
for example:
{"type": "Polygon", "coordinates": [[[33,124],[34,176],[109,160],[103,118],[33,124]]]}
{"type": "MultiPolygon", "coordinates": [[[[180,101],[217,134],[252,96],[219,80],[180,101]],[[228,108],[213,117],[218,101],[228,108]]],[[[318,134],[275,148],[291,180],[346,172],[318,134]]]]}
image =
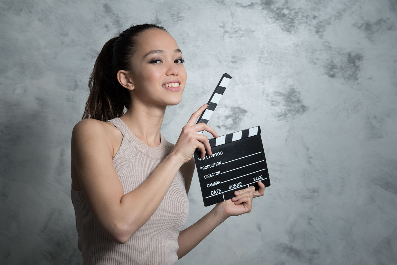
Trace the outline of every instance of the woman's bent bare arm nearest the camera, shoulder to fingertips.
{"type": "Polygon", "coordinates": [[[96,221],[110,239],[127,242],[156,211],[181,165],[190,161],[197,148],[202,152],[205,147],[210,150],[206,136],[197,132],[207,130],[215,137],[216,133],[206,124],[194,124],[205,106],[189,119],[164,161],[127,194],[114,168],[113,148],[104,123],[87,119],[73,128],[71,153],[79,185],[96,221]]]}

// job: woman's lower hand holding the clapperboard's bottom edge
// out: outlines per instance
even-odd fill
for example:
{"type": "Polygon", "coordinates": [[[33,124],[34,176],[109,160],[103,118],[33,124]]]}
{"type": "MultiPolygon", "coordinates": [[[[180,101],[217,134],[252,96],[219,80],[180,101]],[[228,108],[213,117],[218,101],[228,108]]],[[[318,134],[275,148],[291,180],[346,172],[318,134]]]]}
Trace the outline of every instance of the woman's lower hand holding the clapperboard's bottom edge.
{"type": "Polygon", "coordinates": [[[224,215],[224,218],[230,216],[242,215],[249,213],[252,209],[252,199],[264,195],[265,185],[258,181],[259,190],[255,191],[254,186],[234,192],[235,197],[222,201],[216,205],[216,208],[224,215]]]}

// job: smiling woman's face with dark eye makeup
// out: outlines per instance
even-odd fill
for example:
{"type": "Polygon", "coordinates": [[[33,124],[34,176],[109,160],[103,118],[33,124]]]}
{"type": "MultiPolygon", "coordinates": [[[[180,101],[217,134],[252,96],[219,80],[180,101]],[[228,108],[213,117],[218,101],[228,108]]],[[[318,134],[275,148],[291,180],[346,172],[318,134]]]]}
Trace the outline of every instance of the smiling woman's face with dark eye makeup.
{"type": "Polygon", "coordinates": [[[148,29],[137,44],[132,57],[132,100],[161,106],[181,102],[187,74],[173,37],[161,29],[148,29]]]}

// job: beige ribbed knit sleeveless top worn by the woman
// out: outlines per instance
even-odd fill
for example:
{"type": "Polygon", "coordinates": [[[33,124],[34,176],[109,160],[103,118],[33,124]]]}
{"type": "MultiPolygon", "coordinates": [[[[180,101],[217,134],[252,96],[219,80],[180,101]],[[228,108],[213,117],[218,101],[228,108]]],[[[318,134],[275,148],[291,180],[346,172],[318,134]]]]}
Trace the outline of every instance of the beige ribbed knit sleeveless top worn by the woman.
{"type": "MultiPolygon", "coordinates": [[[[124,193],[137,188],[170,153],[161,134],[158,147],[139,140],[120,118],[109,120],[123,134],[113,164],[124,193]]],[[[71,190],[75,209],[78,248],[83,264],[175,264],[178,236],[189,215],[185,181],[178,170],[170,189],[152,217],[125,244],[110,240],[96,223],[82,191],[71,190]]]]}

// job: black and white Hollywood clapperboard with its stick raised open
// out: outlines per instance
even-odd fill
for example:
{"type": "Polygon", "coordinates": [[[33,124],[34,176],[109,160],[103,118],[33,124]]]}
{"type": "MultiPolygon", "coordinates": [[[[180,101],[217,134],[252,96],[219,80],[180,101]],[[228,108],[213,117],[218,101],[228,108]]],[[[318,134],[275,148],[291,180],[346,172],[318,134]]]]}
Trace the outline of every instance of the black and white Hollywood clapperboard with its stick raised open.
{"type": "MultiPolygon", "coordinates": [[[[208,123],[230,80],[230,75],[222,75],[197,123],[208,123]]],[[[231,199],[234,191],[249,186],[258,190],[258,180],[265,187],[270,186],[260,133],[260,127],[256,126],[209,139],[212,155],[206,154],[204,159],[200,157],[200,150],[195,151],[204,206],[231,199]]]]}

